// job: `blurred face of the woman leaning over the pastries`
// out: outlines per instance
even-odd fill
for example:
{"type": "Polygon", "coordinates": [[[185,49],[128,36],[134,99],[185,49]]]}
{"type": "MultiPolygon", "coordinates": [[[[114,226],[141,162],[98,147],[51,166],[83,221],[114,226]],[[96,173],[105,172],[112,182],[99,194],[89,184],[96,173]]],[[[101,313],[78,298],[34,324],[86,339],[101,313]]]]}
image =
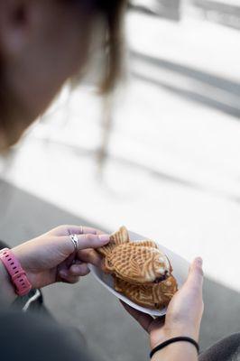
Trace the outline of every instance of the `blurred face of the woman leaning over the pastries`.
{"type": "MultiPolygon", "coordinates": [[[[21,125],[14,141],[88,58],[88,28],[94,18],[80,2],[69,1],[0,2],[0,82],[11,103],[7,122],[21,125]]],[[[0,128],[0,150],[4,147],[0,128]]]]}

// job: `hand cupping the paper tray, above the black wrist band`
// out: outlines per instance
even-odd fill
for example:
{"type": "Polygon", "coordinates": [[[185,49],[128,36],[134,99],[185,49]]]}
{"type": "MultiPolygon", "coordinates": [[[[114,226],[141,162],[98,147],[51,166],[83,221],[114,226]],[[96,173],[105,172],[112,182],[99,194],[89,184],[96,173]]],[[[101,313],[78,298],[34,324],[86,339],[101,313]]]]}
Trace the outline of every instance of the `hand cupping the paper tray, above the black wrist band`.
{"type": "Polygon", "coordinates": [[[178,336],[188,336],[198,341],[203,313],[202,284],[202,260],[196,258],[189,268],[187,281],[171,299],[165,319],[153,319],[122,303],[125,310],[149,333],[151,348],[178,336]]]}

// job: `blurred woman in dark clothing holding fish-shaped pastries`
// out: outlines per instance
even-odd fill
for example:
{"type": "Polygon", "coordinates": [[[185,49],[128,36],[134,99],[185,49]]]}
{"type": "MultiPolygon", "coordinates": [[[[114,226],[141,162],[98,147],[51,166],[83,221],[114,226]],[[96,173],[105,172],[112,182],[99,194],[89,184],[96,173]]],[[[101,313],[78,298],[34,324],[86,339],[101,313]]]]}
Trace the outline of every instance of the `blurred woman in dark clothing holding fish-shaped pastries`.
{"type": "MultiPolygon", "coordinates": [[[[7,151],[44,112],[67,79],[92,57],[93,34],[102,43],[102,92],[114,87],[121,59],[125,0],[2,0],[0,2],[0,150],[7,151]]],[[[61,226],[0,254],[1,356],[7,359],[93,359],[69,331],[47,319],[9,312],[17,294],[54,282],[78,282],[95,248],[109,236],[97,229],[61,226]],[[15,273],[21,274],[21,277],[15,273]],[[41,347],[44,345],[44,347],[41,347]],[[32,355],[34,354],[34,355],[32,355]]],[[[197,360],[203,312],[202,261],[172,299],[165,321],[125,306],[150,335],[154,360],[197,360]],[[163,347],[162,342],[177,340],[163,347]],[[162,345],[162,349],[155,347],[162,345]]],[[[230,342],[230,341],[229,341],[230,342]]],[[[220,358],[218,358],[219,360],[220,358]]],[[[230,359],[230,358],[229,358],[230,359]]],[[[226,358],[225,358],[226,360],[226,358]]]]}

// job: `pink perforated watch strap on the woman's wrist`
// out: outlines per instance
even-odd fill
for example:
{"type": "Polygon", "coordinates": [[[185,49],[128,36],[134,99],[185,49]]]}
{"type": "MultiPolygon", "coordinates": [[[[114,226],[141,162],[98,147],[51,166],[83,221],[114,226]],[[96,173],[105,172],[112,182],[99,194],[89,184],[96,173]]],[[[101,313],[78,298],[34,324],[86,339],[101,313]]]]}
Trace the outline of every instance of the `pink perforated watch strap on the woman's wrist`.
{"type": "Polygon", "coordinates": [[[13,252],[5,248],[0,252],[0,259],[5,264],[5,269],[9,273],[15,286],[15,292],[19,296],[24,296],[32,289],[32,284],[28,281],[26,273],[18,262],[13,252]]]}

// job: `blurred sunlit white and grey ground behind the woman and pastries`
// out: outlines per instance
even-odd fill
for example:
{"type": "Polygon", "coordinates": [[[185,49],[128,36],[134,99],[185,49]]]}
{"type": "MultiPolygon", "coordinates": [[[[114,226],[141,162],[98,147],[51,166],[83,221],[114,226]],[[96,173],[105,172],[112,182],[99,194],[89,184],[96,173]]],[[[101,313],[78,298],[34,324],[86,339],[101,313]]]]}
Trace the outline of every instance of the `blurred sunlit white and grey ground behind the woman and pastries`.
{"type": "MultiPolygon", "coordinates": [[[[201,255],[202,350],[240,325],[239,30],[239,0],[133,0],[115,94],[67,85],[0,161],[0,238],[11,245],[60,224],[125,225],[189,261],[201,255]]],[[[44,292],[99,358],[146,359],[143,331],[91,275],[44,292]]]]}

